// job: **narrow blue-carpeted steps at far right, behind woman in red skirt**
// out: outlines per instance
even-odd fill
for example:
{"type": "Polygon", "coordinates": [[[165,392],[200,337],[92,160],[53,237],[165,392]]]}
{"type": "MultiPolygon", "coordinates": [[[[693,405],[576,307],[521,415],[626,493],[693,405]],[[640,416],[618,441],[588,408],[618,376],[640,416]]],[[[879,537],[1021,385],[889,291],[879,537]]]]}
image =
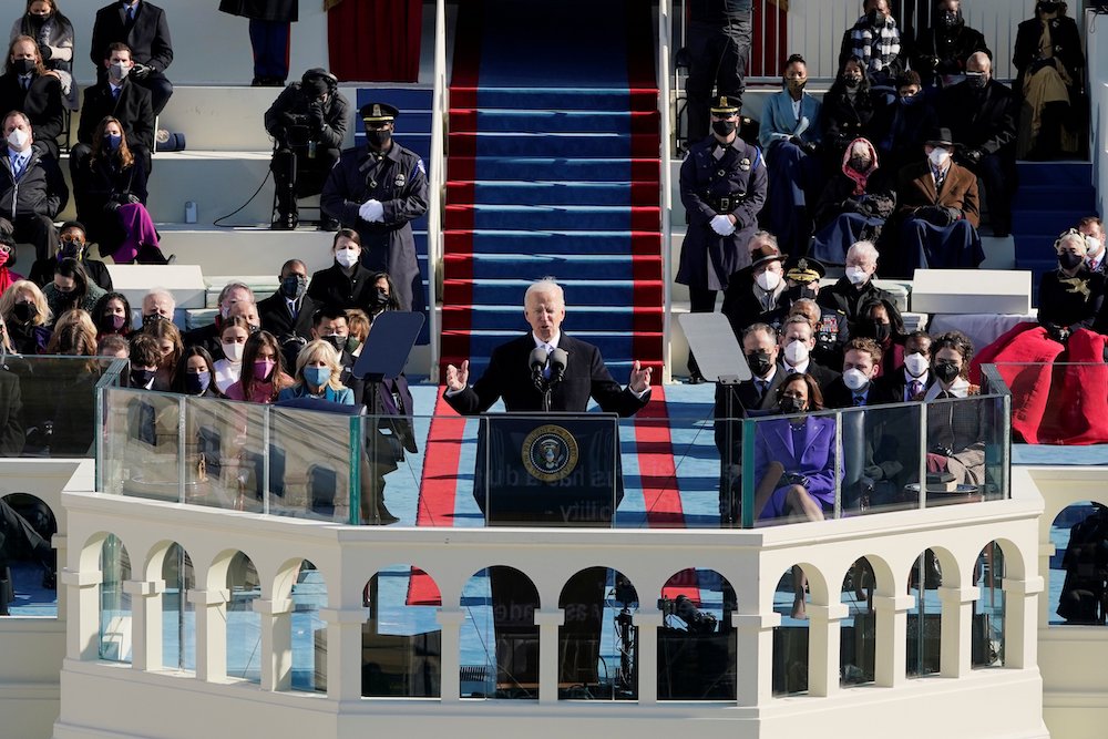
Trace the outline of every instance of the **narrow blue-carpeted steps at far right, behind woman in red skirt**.
{"type": "MultiPolygon", "coordinates": [[[[1019,189],[1012,208],[1016,269],[1029,269],[1037,296],[1039,277],[1057,268],[1054,242],[1085,216],[1096,214],[1092,165],[1088,162],[1019,162],[1019,189]]],[[[1038,305],[1036,299],[1035,305],[1038,305]]]]}

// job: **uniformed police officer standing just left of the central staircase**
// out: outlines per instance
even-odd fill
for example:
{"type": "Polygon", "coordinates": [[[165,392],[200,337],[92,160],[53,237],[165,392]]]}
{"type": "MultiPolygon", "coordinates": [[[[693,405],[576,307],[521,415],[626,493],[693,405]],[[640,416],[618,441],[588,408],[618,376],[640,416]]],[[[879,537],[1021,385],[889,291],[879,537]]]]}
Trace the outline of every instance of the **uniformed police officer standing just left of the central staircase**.
{"type": "Polygon", "coordinates": [[[392,276],[400,309],[422,311],[411,222],[427,213],[427,170],[417,154],[392,140],[396,107],[368,103],[360,114],[366,146],[342,152],[319,202],[325,214],[358,232],[361,264],[392,276]]]}

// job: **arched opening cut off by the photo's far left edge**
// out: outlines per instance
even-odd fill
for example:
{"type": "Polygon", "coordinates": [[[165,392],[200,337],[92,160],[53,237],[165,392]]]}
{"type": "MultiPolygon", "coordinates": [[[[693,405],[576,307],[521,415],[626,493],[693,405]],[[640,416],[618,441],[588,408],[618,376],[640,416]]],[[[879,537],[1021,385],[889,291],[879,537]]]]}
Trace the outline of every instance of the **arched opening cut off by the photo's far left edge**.
{"type": "Polygon", "coordinates": [[[0,616],[58,616],[58,533],[53,511],[37,495],[0,497],[0,616]]]}

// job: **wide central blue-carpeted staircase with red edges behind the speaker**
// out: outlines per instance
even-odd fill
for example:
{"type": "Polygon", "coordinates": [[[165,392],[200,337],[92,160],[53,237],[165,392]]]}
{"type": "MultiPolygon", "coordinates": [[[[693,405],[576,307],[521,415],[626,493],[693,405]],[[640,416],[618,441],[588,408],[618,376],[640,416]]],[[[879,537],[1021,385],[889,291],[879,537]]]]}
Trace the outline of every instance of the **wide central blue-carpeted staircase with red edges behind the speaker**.
{"type": "Polygon", "coordinates": [[[530,283],[556,278],[567,332],[616,379],[660,365],[658,92],[648,7],[582,0],[459,9],[450,90],[443,363],[526,328],[530,283]],[[588,19],[583,22],[583,19],[588,19]],[[522,29],[526,29],[524,32],[522,29]]]}

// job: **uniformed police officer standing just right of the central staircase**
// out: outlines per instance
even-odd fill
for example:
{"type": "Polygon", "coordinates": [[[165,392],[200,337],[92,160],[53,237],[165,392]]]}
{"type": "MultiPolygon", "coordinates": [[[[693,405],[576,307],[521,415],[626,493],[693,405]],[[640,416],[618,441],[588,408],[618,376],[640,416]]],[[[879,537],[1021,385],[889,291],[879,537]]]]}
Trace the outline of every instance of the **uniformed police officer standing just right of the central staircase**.
{"type": "MultiPolygon", "coordinates": [[[[761,151],[738,135],[739,106],[727,95],[711,105],[711,135],[694,144],[681,164],[681,203],[688,230],[677,281],[688,285],[693,312],[716,309],[716,292],[750,264],[747,242],[766,203],[761,151]]],[[[689,381],[704,377],[689,355],[689,381]]]]}

